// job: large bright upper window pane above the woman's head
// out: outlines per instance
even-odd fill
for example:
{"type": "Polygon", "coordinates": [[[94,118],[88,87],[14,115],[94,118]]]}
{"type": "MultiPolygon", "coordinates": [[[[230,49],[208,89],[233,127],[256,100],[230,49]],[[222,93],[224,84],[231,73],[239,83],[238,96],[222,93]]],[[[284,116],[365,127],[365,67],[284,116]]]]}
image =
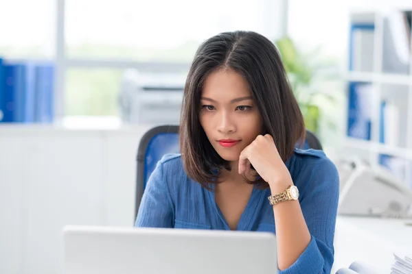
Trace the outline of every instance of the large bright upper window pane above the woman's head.
{"type": "Polygon", "coordinates": [[[279,35],[282,1],[66,1],[67,55],[190,62],[200,42],[218,32],[279,35]]]}

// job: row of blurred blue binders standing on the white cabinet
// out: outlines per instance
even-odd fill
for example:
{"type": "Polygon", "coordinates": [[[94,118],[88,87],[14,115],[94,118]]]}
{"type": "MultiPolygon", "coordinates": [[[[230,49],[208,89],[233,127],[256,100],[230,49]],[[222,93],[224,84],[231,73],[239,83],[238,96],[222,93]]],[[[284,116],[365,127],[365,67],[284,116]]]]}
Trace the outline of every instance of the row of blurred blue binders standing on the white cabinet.
{"type": "Polygon", "coordinates": [[[0,123],[52,123],[54,63],[0,60],[0,123]]]}

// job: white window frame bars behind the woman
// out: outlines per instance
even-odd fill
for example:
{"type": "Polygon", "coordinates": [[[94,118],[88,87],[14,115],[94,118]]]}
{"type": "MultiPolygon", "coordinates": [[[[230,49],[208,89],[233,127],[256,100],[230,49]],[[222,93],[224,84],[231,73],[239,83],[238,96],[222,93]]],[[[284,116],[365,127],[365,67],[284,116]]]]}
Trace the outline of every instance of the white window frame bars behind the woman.
{"type": "MultiPolygon", "coordinates": [[[[54,95],[54,116],[56,121],[61,121],[65,117],[65,84],[66,84],[66,72],[70,68],[84,68],[84,69],[96,69],[96,68],[108,68],[108,69],[130,69],[136,68],[141,70],[154,69],[156,71],[175,71],[188,69],[189,62],[139,62],[139,61],[127,61],[117,60],[110,58],[68,58],[66,54],[66,41],[65,41],[65,1],[56,0],[56,75],[55,75],[55,95],[54,95]]],[[[255,0],[262,2],[262,5],[271,7],[273,1],[280,1],[282,11],[278,14],[283,14],[283,18],[280,21],[279,27],[281,35],[287,33],[288,23],[288,0],[255,0]]],[[[267,11],[266,21],[268,25],[271,22],[270,11],[267,11]]],[[[272,15],[272,18],[275,17],[272,15]]]]}

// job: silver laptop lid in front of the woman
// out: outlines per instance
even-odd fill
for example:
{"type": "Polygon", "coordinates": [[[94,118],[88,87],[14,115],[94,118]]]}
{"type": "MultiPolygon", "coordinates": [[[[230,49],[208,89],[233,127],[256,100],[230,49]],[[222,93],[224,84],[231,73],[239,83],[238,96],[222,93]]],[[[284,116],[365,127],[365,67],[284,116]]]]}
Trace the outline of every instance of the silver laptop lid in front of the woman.
{"type": "Polygon", "coordinates": [[[64,274],[275,274],[275,234],[67,226],[64,274]]]}

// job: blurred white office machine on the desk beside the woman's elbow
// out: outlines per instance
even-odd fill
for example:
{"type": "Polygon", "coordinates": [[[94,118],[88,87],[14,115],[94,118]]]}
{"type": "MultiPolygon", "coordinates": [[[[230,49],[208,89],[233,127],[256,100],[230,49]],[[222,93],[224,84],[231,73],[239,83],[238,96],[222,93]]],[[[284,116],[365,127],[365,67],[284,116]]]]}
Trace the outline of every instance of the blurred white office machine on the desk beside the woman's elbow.
{"type": "Polygon", "coordinates": [[[412,189],[381,166],[360,158],[336,162],[340,177],[338,214],[412,218],[412,189]]]}

